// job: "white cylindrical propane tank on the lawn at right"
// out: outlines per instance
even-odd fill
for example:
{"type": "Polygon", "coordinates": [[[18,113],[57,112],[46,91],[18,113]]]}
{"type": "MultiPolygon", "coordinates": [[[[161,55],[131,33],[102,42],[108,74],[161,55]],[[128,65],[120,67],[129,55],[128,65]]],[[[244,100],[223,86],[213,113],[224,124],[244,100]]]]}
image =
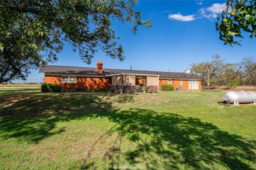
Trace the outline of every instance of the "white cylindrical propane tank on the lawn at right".
{"type": "Polygon", "coordinates": [[[254,103],[256,101],[256,93],[252,91],[239,90],[238,92],[227,92],[223,96],[223,100],[234,105],[254,103]]]}

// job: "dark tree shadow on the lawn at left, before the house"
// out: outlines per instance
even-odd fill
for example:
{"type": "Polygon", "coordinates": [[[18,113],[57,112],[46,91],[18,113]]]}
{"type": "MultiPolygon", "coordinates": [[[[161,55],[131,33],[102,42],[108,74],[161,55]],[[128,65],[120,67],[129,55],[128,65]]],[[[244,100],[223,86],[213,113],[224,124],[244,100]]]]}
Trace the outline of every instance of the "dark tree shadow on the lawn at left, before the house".
{"type": "Polygon", "coordinates": [[[97,94],[86,93],[6,94],[1,96],[1,106],[1,137],[26,144],[63,132],[64,129],[52,131],[58,122],[113,109],[97,94]]]}

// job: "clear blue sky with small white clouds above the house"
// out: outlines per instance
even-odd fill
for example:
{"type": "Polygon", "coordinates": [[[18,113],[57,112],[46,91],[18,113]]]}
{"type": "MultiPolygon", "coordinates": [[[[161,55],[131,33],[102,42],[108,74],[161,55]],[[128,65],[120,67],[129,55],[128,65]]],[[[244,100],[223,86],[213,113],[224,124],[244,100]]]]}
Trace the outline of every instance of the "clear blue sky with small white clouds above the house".
{"type": "MultiPolygon", "coordinates": [[[[78,53],[65,46],[51,65],[96,67],[102,60],[104,68],[184,72],[192,63],[212,61],[212,55],[220,55],[230,63],[238,63],[245,56],[256,57],[256,38],[243,33],[239,45],[224,45],[215,29],[218,16],[225,8],[224,0],[142,0],[135,8],[143,13],[142,20],[149,19],[151,28],[138,27],[137,34],[118,21],[112,23],[126,59],[122,62],[106,57],[98,51],[90,65],[84,63],[78,53]]],[[[42,82],[44,73],[32,70],[25,82],[42,82]]],[[[16,83],[23,81],[16,80],[16,83]]]]}

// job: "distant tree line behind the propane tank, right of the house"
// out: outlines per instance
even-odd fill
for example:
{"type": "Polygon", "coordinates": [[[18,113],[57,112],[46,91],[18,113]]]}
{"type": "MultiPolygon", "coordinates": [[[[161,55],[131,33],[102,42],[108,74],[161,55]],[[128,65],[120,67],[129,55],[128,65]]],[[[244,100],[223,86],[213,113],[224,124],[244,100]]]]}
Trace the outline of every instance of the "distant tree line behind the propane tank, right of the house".
{"type": "Polygon", "coordinates": [[[219,55],[212,56],[212,61],[192,63],[191,74],[203,78],[202,85],[207,86],[255,86],[256,59],[244,57],[239,63],[228,63],[219,55]],[[209,72],[210,69],[210,72],[209,72]]]}

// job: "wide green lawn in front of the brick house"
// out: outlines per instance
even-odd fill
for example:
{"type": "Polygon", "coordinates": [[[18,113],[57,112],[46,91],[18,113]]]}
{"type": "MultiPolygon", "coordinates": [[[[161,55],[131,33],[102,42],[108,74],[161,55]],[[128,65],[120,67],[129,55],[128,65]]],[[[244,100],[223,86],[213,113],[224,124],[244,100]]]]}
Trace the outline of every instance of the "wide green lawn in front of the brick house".
{"type": "Polygon", "coordinates": [[[256,169],[256,106],[225,92],[1,91],[1,169],[256,169]]]}

